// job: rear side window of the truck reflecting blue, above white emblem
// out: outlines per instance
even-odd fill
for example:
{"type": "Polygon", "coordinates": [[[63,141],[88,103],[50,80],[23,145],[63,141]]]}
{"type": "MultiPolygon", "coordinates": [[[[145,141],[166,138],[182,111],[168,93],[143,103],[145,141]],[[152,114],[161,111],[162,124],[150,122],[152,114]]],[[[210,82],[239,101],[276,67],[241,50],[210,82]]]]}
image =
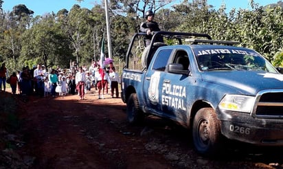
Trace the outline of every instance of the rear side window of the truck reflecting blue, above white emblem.
{"type": "Polygon", "coordinates": [[[171,52],[172,49],[163,49],[159,51],[159,53],[157,54],[157,58],[155,59],[155,63],[153,63],[152,69],[164,71],[171,52]]]}

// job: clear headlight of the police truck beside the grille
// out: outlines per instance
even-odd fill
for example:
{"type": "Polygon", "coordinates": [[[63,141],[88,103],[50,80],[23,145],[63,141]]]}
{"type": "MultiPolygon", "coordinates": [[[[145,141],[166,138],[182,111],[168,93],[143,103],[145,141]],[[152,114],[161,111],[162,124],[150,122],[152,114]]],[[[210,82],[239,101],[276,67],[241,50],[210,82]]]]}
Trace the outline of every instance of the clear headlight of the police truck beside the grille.
{"type": "Polygon", "coordinates": [[[255,99],[255,97],[247,95],[225,95],[218,107],[227,111],[251,113],[255,99]]]}

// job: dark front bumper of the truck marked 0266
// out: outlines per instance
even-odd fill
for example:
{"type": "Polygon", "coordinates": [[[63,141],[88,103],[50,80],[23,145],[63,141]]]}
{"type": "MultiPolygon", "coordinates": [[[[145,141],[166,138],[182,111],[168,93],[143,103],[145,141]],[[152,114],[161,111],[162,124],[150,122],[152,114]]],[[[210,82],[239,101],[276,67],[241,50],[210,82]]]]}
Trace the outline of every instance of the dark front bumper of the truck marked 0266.
{"type": "Polygon", "coordinates": [[[229,139],[260,146],[283,146],[283,119],[263,119],[225,111],[218,116],[221,133],[229,139]]]}

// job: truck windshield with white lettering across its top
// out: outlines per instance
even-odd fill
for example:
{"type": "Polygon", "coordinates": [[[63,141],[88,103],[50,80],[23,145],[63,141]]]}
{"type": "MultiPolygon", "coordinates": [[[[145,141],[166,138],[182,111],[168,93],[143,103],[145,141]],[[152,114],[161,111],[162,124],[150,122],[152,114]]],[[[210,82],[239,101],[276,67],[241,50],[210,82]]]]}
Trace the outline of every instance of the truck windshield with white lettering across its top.
{"type": "Polygon", "coordinates": [[[201,71],[245,70],[277,72],[263,56],[251,49],[196,49],[201,71]]]}

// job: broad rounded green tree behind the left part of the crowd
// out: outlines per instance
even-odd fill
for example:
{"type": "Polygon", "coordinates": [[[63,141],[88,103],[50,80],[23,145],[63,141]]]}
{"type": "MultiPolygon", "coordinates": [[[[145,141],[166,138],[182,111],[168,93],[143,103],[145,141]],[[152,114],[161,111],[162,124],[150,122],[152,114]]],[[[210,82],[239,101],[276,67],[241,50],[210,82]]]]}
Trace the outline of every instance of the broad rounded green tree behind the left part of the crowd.
{"type": "Polygon", "coordinates": [[[69,38],[62,33],[60,25],[54,22],[54,16],[45,17],[23,34],[21,56],[25,60],[34,60],[35,65],[43,63],[51,67],[67,67],[71,57],[69,38]]]}

